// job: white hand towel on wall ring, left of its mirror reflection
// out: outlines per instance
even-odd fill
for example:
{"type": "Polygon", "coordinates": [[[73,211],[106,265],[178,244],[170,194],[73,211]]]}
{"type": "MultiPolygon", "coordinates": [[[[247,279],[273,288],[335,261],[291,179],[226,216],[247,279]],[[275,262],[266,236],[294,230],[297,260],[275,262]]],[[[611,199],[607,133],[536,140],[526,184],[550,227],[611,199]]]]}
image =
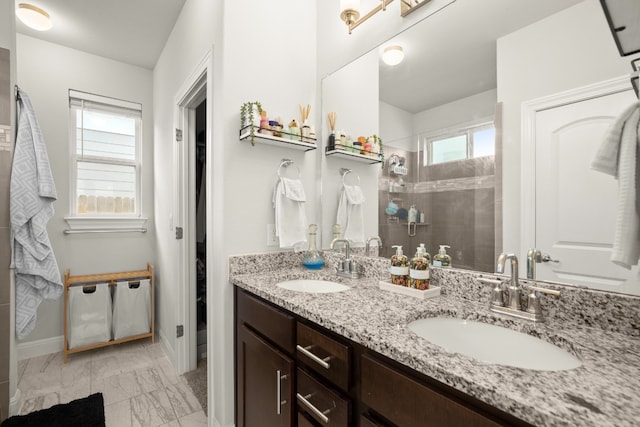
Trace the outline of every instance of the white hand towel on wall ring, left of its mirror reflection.
{"type": "Polygon", "coordinates": [[[307,241],[304,187],[299,179],[280,178],[273,192],[276,236],[281,248],[307,241]]]}

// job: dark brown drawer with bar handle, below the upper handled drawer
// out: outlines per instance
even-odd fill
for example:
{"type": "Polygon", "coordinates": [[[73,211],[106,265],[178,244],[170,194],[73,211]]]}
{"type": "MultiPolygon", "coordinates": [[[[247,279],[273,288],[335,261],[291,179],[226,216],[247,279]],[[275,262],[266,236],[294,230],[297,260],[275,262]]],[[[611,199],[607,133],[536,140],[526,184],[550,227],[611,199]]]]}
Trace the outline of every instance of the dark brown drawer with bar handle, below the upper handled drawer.
{"type": "Polygon", "coordinates": [[[323,426],[349,426],[349,401],[314,380],[298,368],[296,388],[298,409],[323,426]]]}

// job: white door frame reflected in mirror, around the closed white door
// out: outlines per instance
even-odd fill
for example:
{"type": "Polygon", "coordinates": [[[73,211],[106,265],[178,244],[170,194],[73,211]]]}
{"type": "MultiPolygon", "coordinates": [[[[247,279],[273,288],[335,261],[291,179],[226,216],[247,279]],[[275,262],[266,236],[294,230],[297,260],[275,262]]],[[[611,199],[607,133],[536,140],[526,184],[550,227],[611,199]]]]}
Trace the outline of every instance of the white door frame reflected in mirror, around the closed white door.
{"type": "Polygon", "coordinates": [[[520,257],[536,245],[536,115],[588,99],[632,90],[629,76],[616,77],[587,86],[536,98],[522,103],[522,147],[520,152],[520,257]]]}

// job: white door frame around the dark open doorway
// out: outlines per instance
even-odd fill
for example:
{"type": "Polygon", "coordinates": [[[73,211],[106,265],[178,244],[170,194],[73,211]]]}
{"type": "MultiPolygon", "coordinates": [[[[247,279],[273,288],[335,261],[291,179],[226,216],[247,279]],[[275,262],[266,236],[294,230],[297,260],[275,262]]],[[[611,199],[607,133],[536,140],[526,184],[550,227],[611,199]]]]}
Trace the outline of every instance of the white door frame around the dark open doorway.
{"type": "MultiPolygon", "coordinates": [[[[173,207],[174,227],[182,227],[183,237],[177,239],[178,260],[177,270],[177,304],[175,312],[176,325],[182,325],[184,335],[176,339],[176,371],[179,374],[194,370],[197,365],[197,272],[196,272],[196,206],[195,206],[195,109],[205,99],[213,99],[212,83],[212,53],[207,52],[191,75],[185,80],[182,88],[175,97],[175,129],[182,131],[182,141],[175,138],[174,183],[175,201],[173,207]]],[[[210,104],[210,103],[209,103],[210,104]]],[[[211,108],[207,105],[205,143],[211,147],[211,108]]],[[[211,200],[211,166],[207,150],[206,160],[206,190],[205,197],[211,200]]],[[[207,203],[207,212],[210,204],[207,203]]],[[[207,235],[211,236],[210,222],[206,221],[207,235]]],[[[207,239],[208,241],[210,239],[207,239]]],[[[208,246],[208,245],[207,245],[208,246]]],[[[208,249],[208,248],[207,248],[208,249]]],[[[207,266],[211,259],[211,252],[207,250],[207,266]]],[[[207,273],[209,268],[207,267],[207,273]]],[[[206,286],[209,288],[211,276],[207,274],[206,286]]],[[[207,295],[209,300],[209,295],[207,295]]],[[[208,301],[207,301],[208,302],[208,301]]],[[[209,310],[207,310],[207,324],[209,324],[209,310]]],[[[208,340],[207,340],[208,341],[208,340]]]]}

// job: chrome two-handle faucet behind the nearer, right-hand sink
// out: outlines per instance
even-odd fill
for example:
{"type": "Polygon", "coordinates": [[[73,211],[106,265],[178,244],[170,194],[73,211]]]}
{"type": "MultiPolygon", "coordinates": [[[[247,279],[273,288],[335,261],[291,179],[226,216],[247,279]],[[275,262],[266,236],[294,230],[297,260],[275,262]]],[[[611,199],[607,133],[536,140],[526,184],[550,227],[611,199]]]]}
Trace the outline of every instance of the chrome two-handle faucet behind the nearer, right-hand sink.
{"type": "MultiPolygon", "coordinates": [[[[536,250],[530,250],[529,253],[532,255],[531,259],[534,261],[534,264],[535,262],[540,262],[535,261],[537,257],[536,250]]],[[[529,253],[527,254],[527,261],[529,260],[529,253]]],[[[534,322],[543,321],[542,308],[540,307],[540,293],[559,298],[560,291],[541,288],[538,286],[521,286],[518,283],[518,258],[514,254],[502,253],[498,256],[496,273],[504,273],[505,265],[508,260],[511,260],[511,280],[506,289],[504,289],[504,285],[499,279],[482,277],[479,279],[481,282],[492,286],[489,309],[496,313],[506,314],[520,319],[533,320],[534,322]],[[526,289],[528,292],[526,310],[523,309],[521,302],[522,289],[526,289]]],[[[527,267],[529,267],[528,264],[527,267]]],[[[527,268],[527,273],[528,270],[529,269],[527,268]]]]}

